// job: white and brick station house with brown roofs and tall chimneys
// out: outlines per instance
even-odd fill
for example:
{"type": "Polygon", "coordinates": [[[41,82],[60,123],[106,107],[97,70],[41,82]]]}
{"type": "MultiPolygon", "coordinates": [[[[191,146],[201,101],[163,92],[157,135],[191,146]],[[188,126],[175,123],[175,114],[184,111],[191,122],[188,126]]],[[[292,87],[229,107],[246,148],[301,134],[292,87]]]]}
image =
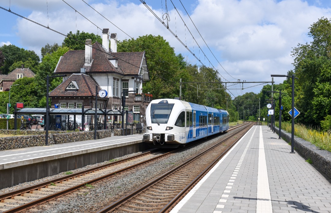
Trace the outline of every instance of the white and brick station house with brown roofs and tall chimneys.
{"type": "MultiPolygon", "coordinates": [[[[110,35],[109,29],[103,29],[102,33],[102,44],[92,44],[91,39],[86,39],[85,50],[69,50],[60,58],[54,73],[67,77],[50,92],[52,106],[122,110],[121,92],[134,91],[125,93],[124,110],[132,110],[134,120],[143,122],[146,107],[152,100],[151,95],[145,95],[142,90],[142,83],[150,80],[145,52],[117,52],[117,34],[110,35]],[[108,95],[98,96],[95,107],[96,86],[97,92],[104,89],[108,95]]],[[[120,121],[121,118],[109,119],[120,121]]]]}

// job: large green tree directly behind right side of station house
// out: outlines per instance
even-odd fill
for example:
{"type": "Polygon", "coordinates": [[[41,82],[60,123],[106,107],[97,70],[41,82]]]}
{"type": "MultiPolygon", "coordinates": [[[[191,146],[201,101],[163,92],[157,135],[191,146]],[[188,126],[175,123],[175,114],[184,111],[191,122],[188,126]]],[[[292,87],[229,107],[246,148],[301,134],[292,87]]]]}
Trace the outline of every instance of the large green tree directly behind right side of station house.
{"type": "Polygon", "coordinates": [[[160,35],[139,36],[118,42],[118,52],[146,51],[150,81],[144,83],[143,91],[153,94],[153,98],[173,98],[179,96],[179,80],[187,79],[183,69],[186,63],[182,55],[176,55],[169,43],[160,35]]]}

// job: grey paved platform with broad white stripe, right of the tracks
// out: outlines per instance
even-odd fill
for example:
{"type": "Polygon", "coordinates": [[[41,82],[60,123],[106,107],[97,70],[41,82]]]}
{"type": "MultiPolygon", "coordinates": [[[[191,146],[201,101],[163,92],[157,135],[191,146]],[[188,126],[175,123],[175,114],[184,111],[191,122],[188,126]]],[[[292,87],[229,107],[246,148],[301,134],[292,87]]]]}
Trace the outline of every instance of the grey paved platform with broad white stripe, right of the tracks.
{"type": "Polygon", "coordinates": [[[254,126],[177,212],[331,212],[331,184],[267,126],[254,126]]]}

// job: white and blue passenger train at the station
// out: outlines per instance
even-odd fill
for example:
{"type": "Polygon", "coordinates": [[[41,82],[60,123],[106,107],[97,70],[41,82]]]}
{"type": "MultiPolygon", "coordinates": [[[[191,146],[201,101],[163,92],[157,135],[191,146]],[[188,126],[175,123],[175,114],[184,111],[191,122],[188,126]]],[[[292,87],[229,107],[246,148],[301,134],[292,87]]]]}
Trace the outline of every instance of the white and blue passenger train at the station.
{"type": "Polygon", "coordinates": [[[157,147],[177,147],[228,129],[226,110],[177,99],[156,99],[146,109],[143,141],[157,147]]]}

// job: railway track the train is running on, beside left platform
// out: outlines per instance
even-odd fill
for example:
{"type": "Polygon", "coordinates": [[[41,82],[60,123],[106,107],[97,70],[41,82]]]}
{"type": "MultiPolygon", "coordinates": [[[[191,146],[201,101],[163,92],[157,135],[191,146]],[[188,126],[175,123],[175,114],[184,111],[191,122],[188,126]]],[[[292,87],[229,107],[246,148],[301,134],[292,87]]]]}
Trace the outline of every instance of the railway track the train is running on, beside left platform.
{"type": "MultiPolygon", "coordinates": [[[[229,131],[238,127],[240,127],[240,125],[230,128],[229,131]]],[[[92,183],[112,177],[124,171],[137,168],[153,160],[165,157],[166,155],[176,151],[178,151],[178,149],[170,152],[149,151],[130,158],[122,159],[96,168],[54,179],[50,182],[44,182],[38,185],[29,186],[16,191],[1,194],[0,212],[9,213],[24,211],[51,199],[89,186],[92,183]]]]}

